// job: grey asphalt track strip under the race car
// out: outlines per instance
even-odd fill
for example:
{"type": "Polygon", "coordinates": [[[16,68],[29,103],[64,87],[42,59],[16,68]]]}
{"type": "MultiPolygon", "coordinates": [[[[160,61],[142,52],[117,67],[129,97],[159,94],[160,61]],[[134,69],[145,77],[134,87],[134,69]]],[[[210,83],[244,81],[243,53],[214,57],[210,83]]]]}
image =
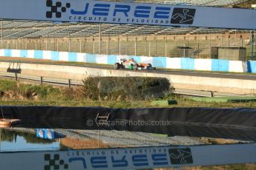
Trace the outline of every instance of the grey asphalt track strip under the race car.
{"type": "MultiPolygon", "coordinates": [[[[53,61],[19,61],[19,60],[5,60],[0,59],[0,62],[11,62],[11,63],[27,63],[27,64],[50,64],[50,65],[64,65],[64,66],[73,66],[73,67],[89,67],[95,69],[113,69],[110,65],[102,64],[72,64],[70,62],[53,62],[53,61]]],[[[125,69],[120,69],[125,70],[125,69]]],[[[196,72],[196,71],[186,71],[186,70],[171,70],[171,69],[156,69],[156,70],[131,70],[127,69],[129,72],[153,72],[164,75],[186,75],[186,76],[195,76],[195,77],[207,77],[207,78],[231,78],[231,79],[240,79],[240,80],[255,80],[256,75],[245,75],[245,74],[236,74],[236,73],[220,73],[220,72],[196,72]]]]}

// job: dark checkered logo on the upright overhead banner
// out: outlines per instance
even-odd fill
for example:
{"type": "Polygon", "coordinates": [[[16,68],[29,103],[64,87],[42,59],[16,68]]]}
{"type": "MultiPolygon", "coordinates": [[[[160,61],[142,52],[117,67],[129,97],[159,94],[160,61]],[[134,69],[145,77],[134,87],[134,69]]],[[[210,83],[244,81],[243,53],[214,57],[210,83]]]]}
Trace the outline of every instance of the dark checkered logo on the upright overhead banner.
{"type": "Polygon", "coordinates": [[[46,6],[50,7],[50,10],[46,12],[46,18],[53,18],[53,14],[55,14],[56,18],[61,18],[62,13],[65,13],[67,8],[70,8],[70,3],[66,3],[64,6],[62,5],[61,1],[56,1],[56,3],[53,4],[52,0],[47,0],[46,6]]]}

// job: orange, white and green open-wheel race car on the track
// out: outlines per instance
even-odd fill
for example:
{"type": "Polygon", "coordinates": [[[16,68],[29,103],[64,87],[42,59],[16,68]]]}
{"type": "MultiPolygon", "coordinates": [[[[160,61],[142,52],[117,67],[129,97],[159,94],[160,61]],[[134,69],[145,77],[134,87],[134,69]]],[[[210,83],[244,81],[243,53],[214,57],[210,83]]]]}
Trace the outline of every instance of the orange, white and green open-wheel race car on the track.
{"type": "Polygon", "coordinates": [[[134,58],[126,59],[126,58],[120,58],[117,63],[114,64],[114,69],[146,69],[146,70],[152,70],[156,69],[156,67],[152,67],[151,64],[144,64],[144,63],[137,63],[134,61],[134,58]]]}

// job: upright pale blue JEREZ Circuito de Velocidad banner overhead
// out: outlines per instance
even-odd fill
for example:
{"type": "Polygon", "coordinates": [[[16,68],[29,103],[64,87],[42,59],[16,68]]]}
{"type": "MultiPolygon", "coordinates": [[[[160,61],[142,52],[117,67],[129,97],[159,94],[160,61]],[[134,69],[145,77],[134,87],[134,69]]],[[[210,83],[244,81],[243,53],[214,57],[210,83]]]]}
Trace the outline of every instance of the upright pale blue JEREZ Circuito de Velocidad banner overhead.
{"type": "Polygon", "coordinates": [[[84,0],[2,0],[1,19],[256,29],[256,10],[84,0]]]}

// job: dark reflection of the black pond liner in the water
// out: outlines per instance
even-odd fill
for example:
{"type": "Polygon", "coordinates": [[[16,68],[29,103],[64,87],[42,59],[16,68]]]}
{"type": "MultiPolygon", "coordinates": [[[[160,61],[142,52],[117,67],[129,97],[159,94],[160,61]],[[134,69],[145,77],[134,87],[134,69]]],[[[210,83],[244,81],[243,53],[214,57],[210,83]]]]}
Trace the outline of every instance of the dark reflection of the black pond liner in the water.
{"type": "Polygon", "coordinates": [[[80,129],[80,130],[117,130],[128,132],[145,132],[153,134],[165,134],[168,136],[188,136],[188,137],[214,137],[234,140],[249,140],[256,141],[256,129],[244,129],[234,127],[223,126],[195,126],[185,124],[175,124],[167,126],[111,126],[102,125],[97,126],[93,123],[92,126],[88,126],[86,121],[79,121],[73,123],[72,121],[65,120],[24,120],[20,127],[24,128],[40,128],[47,129],[80,129]]]}

